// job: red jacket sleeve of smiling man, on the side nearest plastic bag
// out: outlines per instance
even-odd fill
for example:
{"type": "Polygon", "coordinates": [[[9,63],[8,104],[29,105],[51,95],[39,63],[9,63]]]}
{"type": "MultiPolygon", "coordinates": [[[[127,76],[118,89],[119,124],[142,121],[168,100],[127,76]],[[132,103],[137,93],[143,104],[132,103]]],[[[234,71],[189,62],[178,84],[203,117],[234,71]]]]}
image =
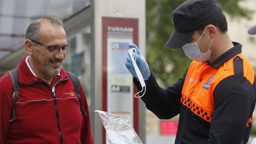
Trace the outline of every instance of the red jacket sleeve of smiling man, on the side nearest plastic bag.
{"type": "Polygon", "coordinates": [[[83,123],[81,127],[81,142],[82,144],[94,144],[93,138],[92,138],[92,128],[90,124],[90,113],[88,108],[88,103],[85,97],[85,92],[83,91],[83,86],[81,84],[81,90],[80,90],[81,100],[83,104],[83,108],[86,111],[86,118],[83,117],[83,123]]]}

